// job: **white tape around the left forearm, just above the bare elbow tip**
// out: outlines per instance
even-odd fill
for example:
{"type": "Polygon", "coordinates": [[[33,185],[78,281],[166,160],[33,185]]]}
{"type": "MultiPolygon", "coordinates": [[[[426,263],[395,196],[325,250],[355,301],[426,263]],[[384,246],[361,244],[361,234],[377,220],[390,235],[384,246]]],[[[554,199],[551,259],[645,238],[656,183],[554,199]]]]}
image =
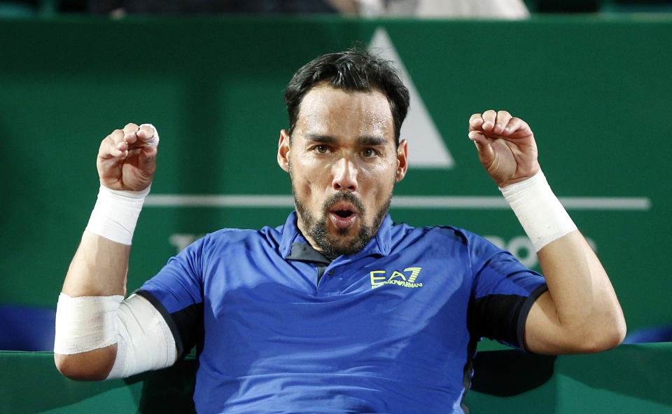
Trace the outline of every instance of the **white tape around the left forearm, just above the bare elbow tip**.
{"type": "Polygon", "coordinates": [[[54,352],[69,355],[117,343],[117,312],[124,297],[58,296],[54,352]]]}

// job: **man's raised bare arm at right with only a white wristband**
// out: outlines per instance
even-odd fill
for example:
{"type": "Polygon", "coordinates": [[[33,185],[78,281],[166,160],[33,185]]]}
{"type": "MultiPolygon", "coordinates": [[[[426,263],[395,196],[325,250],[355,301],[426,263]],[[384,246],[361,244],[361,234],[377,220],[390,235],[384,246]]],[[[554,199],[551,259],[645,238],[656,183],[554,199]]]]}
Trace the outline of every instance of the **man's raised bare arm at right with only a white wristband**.
{"type": "Polygon", "coordinates": [[[526,347],[540,354],[608,350],[622,342],[625,319],[611,282],[543,176],[527,123],[507,111],[475,113],[469,138],[530,237],[548,291],[532,306],[526,347]]]}

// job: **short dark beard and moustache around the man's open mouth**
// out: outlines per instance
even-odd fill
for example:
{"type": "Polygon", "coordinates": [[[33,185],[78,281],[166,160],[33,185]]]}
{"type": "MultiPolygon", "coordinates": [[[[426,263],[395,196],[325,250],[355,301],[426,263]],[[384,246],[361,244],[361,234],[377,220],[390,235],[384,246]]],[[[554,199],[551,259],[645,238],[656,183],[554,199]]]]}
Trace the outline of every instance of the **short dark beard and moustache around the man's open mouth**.
{"type": "Polygon", "coordinates": [[[390,193],[386,202],[384,202],[384,204],[374,216],[372,226],[367,226],[363,220],[363,216],[365,214],[364,205],[352,193],[340,192],[330,196],[327,200],[325,200],[321,207],[320,218],[316,219],[316,217],[299,200],[294,186],[292,186],[292,191],[294,194],[294,204],[296,206],[296,211],[303,220],[305,230],[308,233],[307,236],[311,237],[318,247],[322,249],[323,254],[330,259],[334,259],[342,254],[355,254],[358,251],[364,249],[364,247],[366,247],[374,235],[378,233],[378,229],[383,223],[383,219],[385,218],[392,202],[392,193],[390,193]],[[351,228],[337,228],[337,235],[340,237],[333,237],[327,232],[327,222],[325,216],[332,205],[335,205],[335,203],[342,200],[351,202],[358,209],[358,214],[360,214],[361,218],[358,234],[348,238],[346,238],[346,235],[349,233],[351,228]]]}

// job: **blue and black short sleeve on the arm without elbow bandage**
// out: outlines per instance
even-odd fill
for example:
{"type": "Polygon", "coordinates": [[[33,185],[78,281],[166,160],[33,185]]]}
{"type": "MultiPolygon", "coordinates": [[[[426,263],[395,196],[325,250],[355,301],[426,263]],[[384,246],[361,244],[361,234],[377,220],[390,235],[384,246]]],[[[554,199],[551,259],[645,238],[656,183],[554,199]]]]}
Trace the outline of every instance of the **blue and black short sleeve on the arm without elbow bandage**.
{"type": "Polygon", "coordinates": [[[547,286],[538,272],[510,252],[486,240],[472,240],[474,284],[468,324],[472,337],[491,338],[525,350],[525,322],[534,301],[547,286]]]}

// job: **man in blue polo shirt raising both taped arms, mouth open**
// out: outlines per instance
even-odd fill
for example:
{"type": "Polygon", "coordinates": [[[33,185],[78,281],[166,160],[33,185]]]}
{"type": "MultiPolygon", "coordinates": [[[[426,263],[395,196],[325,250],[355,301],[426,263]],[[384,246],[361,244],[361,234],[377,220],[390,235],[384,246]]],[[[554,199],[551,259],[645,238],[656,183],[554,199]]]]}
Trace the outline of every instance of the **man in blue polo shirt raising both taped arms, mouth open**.
{"type": "Polygon", "coordinates": [[[103,140],[99,200],[59,298],[59,371],[120,378],[196,344],[200,413],[462,413],[482,336],[547,354],[621,342],[608,277],[546,184],[523,120],[475,113],[469,138],[545,280],[465,230],[392,223],[408,92],[387,62],[318,57],[285,98],[277,160],[296,211],[278,228],[207,235],[123,303],[158,134],[128,124],[103,140]]]}

